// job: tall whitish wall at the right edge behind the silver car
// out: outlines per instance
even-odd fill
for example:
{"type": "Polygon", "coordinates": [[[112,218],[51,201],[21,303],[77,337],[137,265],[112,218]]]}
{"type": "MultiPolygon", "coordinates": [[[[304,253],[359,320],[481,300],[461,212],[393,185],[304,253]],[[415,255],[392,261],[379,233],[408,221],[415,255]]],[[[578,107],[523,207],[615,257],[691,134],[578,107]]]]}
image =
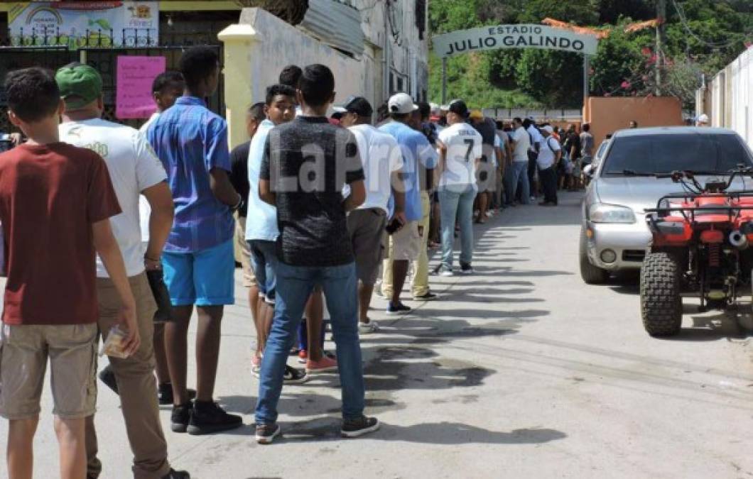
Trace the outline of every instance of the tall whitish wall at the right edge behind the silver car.
{"type": "Polygon", "coordinates": [[[753,148],[753,49],[742,53],[696,92],[696,114],[739,133],[753,148]]]}

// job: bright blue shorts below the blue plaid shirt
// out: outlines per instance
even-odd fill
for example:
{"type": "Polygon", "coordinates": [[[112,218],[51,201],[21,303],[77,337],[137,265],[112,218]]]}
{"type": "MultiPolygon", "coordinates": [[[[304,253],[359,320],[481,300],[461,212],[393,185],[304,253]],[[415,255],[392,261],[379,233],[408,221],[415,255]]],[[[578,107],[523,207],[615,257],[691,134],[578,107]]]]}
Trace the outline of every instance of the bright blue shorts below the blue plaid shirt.
{"type": "Polygon", "coordinates": [[[235,303],[233,238],[194,253],[162,253],[165,283],[173,306],[235,303]]]}

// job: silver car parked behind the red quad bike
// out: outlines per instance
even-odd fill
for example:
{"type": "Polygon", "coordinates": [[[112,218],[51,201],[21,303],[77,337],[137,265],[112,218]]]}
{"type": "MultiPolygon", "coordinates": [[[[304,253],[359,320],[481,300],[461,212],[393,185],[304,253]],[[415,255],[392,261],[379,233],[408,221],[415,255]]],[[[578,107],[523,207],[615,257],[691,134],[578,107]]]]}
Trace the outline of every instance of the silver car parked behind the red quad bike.
{"type": "MultiPolygon", "coordinates": [[[[742,138],[727,129],[663,127],[615,133],[592,171],[583,201],[583,280],[603,283],[611,272],[641,267],[651,241],[645,208],[656,208],[662,196],[682,193],[680,185],[657,174],[694,171],[703,184],[740,164],[753,165],[753,155],[742,138]]],[[[730,190],[745,186],[737,180],[730,190]]]]}

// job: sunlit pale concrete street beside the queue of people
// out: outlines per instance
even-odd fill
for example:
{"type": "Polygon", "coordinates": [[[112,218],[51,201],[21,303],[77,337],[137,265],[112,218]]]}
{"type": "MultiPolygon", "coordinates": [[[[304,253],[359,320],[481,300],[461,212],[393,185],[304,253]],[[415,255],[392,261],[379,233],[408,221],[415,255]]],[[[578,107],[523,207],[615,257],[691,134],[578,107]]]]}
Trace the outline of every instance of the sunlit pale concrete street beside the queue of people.
{"type": "MultiPolygon", "coordinates": [[[[581,281],[580,198],[492,218],[477,229],[477,274],[432,278],[441,299],[409,303],[410,316],[387,319],[377,298],[371,316],[383,331],[361,344],[367,413],[383,422],[380,432],[341,439],[337,376],[320,375],[283,391],[281,441],[256,444],[252,426],[168,432],[175,466],[226,479],[753,475],[747,332],[686,306],[681,336],[648,337],[637,277],[581,281]]],[[[239,287],[227,311],[217,396],[251,424],[258,384],[244,295],[239,287]]],[[[56,477],[47,394],[43,408],[35,477],[56,477]]],[[[162,417],[169,430],[168,408],[162,417]]],[[[129,477],[117,399],[105,387],[97,425],[103,477],[129,477]]],[[[3,443],[6,429],[0,422],[3,443]]]]}

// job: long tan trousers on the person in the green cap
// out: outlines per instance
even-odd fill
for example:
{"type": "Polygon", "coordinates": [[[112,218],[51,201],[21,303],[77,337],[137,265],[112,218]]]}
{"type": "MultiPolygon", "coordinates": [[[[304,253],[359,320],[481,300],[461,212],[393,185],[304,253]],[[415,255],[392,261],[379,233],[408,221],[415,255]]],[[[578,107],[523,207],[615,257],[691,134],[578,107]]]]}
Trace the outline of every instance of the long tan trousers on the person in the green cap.
{"type": "MultiPolygon", "coordinates": [[[[110,364],[120,393],[120,408],[126,422],[128,441],[133,451],[133,477],[156,479],[170,471],[167,443],[160,423],[157,405],[157,381],[154,379],[154,303],[146,274],[128,278],[136,298],[136,320],[139,323],[141,346],[126,359],[111,357],[110,364]]],[[[109,278],[97,278],[99,300],[99,331],[106,337],[117,323],[122,303],[109,278]]],[[[102,463],[97,459],[94,417],[87,417],[87,478],[99,477],[102,463]]],[[[108,471],[107,477],[123,477],[123,471],[108,471]]]]}

